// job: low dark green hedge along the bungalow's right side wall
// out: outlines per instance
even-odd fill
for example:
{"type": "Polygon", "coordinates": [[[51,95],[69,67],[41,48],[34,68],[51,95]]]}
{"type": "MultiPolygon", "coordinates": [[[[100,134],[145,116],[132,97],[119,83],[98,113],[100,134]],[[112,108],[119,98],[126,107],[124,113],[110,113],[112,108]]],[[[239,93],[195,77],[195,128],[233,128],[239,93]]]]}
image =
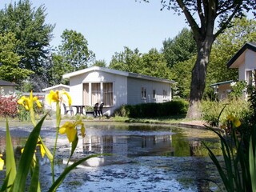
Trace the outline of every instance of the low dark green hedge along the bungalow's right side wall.
{"type": "Polygon", "coordinates": [[[186,114],[188,102],[175,100],[163,103],[143,103],[124,105],[114,111],[114,116],[128,118],[156,118],[170,115],[186,114]]]}

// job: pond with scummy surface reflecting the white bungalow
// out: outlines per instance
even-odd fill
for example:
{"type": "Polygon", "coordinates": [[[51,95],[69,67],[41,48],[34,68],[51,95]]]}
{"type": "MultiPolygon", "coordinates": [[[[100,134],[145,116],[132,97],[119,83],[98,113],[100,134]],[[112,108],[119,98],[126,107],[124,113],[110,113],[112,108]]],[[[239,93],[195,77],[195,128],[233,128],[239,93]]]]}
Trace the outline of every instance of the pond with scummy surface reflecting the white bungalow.
{"type": "MultiPolygon", "coordinates": [[[[55,130],[46,121],[41,136],[50,149],[55,130]]],[[[0,153],[5,153],[5,124],[0,124],[0,153]]],[[[32,130],[10,125],[16,155],[32,130]]],[[[90,158],[73,170],[58,191],[218,191],[218,172],[207,155],[205,141],[218,154],[218,139],[208,130],[166,125],[86,122],[86,137],[79,137],[74,160],[88,154],[114,154],[90,158]]],[[[65,135],[58,139],[56,177],[70,154],[65,135]]],[[[5,173],[0,172],[0,184],[5,173]]],[[[50,162],[40,159],[42,191],[51,185],[50,162]]]]}

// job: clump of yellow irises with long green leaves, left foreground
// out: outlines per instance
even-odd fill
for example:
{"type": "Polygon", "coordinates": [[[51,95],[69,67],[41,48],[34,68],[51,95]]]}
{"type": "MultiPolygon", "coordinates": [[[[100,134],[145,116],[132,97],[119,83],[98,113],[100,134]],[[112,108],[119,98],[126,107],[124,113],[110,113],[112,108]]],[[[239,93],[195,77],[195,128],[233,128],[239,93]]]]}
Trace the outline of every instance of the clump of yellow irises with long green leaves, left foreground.
{"type": "MultiPolygon", "coordinates": [[[[56,137],[54,142],[54,150],[53,153],[48,149],[46,144],[43,142],[40,131],[42,128],[42,124],[48,115],[46,113],[39,122],[36,122],[34,115],[34,103],[40,108],[41,103],[38,101],[37,97],[33,97],[32,91],[30,92],[30,97],[23,96],[18,100],[18,104],[23,106],[26,110],[30,111],[30,119],[32,124],[34,125],[34,129],[31,131],[29,137],[27,138],[26,144],[22,149],[22,155],[19,159],[18,166],[16,167],[15,158],[14,158],[14,149],[11,142],[10,130],[8,120],[6,120],[6,178],[2,183],[0,191],[25,191],[27,185],[27,177],[29,173],[31,174],[29,191],[41,191],[40,190],[40,182],[39,182],[39,164],[38,158],[35,156],[35,149],[39,146],[42,158],[47,156],[50,160],[51,164],[51,175],[52,175],[52,185],[50,186],[48,191],[56,191],[58,186],[61,185],[64,178],[67,174],[70,173],[76,166],[85,162],[89,158],[97,157],[98,154],[90,155],[86,158],[82,158],[77,162],[69,165],[70,158],[74,154],[74,150],[78,144],[78,126],[81,126],[81,134],[82,137],[85,136],[85,126],[83,122],[80,120],[78,122],[66,122],[63,126],[60,126],[61,123],[61,104],[62,102],[68,102],[71,105],[70,95],[66,91],[57,90],[50,91],[50,94],[47,97],[47,102],[50,104],[52,102],[56,103],[56,137]],[[66,101],[67,99],[67,101],[66,101]],[[54,158],[55,151],[58,141],[58,134],[66,134],[69,142],[71,143],[71,151],[70,157],[66,163],[66,168],[63,170],[62,174],[58,176],[57,179],[54,178],[54,158]]],[[[0,170],[3,168],[3,160],[0,156],[0,170]]]]}

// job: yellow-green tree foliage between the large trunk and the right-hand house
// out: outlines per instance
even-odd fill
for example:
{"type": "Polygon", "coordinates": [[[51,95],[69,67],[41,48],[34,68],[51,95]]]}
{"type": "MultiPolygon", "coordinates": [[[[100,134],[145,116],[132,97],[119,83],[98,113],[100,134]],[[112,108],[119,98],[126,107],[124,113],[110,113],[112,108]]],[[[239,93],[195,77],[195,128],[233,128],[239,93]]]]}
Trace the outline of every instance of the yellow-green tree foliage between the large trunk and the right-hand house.
{"type": "Polygon", "coordinates": [[[228,69],[226,63],[246,42],[256,38],[256,21],[254,19],[235,18],[233,26],[218,36],[213,44],[208,66],[207,84],[238,80],[238,70],[228,69]]]}

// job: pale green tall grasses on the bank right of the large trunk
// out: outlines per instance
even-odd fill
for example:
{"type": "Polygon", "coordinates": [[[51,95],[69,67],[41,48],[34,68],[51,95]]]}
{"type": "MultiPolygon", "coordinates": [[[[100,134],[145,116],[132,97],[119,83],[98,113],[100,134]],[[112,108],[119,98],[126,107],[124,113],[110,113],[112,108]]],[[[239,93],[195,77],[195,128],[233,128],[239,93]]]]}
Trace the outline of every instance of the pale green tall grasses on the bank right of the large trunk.
{"type": "Polygon", "coordinates": [[[242,98],[226,99],[220,102],[209,100],[202,101],[202,119],[211,126],[225,124],[226,117],[229,114],[233,114],[238,119],[246,118],[246,116],[250,114],[250,102],[246,102],[246,100],[242,98]],[[225,107],[225,109],[222,111],[223,107],[225,107]],[[221,112],[222,115],[218,119],[221,112]]]}

